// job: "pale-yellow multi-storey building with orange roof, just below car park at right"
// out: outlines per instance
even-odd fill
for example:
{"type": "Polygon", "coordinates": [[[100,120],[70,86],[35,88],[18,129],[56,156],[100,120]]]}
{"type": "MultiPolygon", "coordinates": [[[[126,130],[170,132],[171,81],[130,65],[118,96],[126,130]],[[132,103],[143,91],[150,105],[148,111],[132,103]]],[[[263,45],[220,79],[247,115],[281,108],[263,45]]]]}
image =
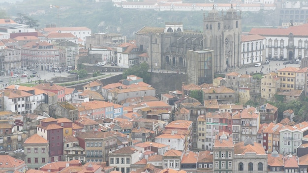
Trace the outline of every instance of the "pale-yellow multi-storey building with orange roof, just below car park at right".
{"type": "Polygon", "coordinates": [[[286,67],[278,70],[278,77],[280,78],[281,90],[294,90],[295,89],[295,75],[299,68],[286,67]]]}

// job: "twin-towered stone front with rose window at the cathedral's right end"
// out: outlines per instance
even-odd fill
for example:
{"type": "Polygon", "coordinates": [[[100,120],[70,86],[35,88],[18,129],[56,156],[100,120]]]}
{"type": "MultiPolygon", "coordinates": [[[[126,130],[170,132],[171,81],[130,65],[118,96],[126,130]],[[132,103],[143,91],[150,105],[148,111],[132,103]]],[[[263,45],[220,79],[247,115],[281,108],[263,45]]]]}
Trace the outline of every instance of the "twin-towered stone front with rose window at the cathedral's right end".
{"type": "Polygon", "coordinates": [[[224,15],[215,9],[209,11],[203,19],[203,45],[213,50],[214,71],[220,72],[228,68],[240,67],[242,18],[236,9],[227,10],[224,15]]]}

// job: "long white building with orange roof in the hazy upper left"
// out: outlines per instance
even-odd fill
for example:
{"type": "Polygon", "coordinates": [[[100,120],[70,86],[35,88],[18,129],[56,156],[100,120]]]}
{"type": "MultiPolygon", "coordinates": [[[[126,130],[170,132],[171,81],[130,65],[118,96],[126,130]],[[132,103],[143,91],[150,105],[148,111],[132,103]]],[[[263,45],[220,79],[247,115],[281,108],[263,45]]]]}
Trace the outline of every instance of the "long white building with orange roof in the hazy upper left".
{"type": "Polygon", "coordinates": [[[71,33],[82,39],[83,45],[86,44],[86,36],[91,36],[92,30],[87,27],[60,27],[60,28],[44,28],[45,32],[71,33]]]}

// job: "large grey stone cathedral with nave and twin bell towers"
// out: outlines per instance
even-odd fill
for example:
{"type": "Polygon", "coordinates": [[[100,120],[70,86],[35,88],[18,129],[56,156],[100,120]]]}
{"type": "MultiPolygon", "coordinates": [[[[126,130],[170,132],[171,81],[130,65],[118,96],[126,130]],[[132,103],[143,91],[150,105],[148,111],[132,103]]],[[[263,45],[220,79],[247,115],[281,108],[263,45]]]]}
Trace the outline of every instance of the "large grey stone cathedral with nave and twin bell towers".
{"type": "Polygon", "coordinates": [[[194,33],[183,30],[182,23],[168,22],[165,28],[143,27],[136,32],[136,44],[141,52],[139,63],[143,61],[150,65],[150,68],[174,70],[176,72],[188,73],[200,71],[195,84],[212,83],[214,73],[219,73],[228,68],[241,66],[241,35],[242,35],[241,12],[233,8],[226,12],[213,9],[203,17],[203,33],[194,33]],[[198,60],[207,53],[206,59],[198,60]],[[187,51],[196,51],[189,53],[187,51]],[[189,61],[194,61],[189,66],[189,61]],[[199,63],[198,63],[199,62],[199,63]]]}

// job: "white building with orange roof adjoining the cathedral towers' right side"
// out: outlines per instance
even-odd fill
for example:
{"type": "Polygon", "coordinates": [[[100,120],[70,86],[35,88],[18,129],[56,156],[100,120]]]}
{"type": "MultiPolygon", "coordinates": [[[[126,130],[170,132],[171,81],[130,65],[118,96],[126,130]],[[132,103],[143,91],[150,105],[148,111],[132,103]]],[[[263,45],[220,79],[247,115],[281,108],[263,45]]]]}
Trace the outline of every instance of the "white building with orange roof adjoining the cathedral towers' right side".
{"type": "Polygon", "coordinates": [[[252,65],[265,61],[265,37],[261,35],[242,35],[241,65],[252,65]]]}

